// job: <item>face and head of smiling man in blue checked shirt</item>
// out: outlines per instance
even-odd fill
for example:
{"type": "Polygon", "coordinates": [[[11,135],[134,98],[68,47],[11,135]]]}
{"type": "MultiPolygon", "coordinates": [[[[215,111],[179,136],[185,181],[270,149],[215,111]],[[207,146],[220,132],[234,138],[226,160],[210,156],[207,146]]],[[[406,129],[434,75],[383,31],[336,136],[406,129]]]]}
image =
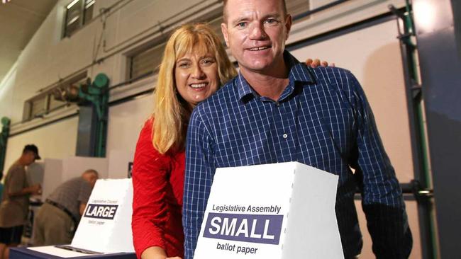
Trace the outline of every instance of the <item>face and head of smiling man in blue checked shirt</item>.
{"type": "Polygon", "coordinates": [[[283,64],[291,16],[281,0],[229,0],[221,30],[240,69],[266,74],[283,64]]]}

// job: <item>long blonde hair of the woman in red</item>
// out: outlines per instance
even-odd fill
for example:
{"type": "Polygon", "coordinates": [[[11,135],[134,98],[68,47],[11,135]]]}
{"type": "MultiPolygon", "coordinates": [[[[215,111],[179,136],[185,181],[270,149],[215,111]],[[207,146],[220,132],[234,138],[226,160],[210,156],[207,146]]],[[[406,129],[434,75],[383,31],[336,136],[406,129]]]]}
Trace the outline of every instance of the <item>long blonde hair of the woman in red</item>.
{"type": "Polygon", "coordinates": [[[187,24],[174,31],[165,46],[154,93],[152,144],[160,154],[170,149],[184,149],[191,109],[176,91],[174,69],[177,60],[192,51],[214,54],[221,85],[237,74],[209,25],[187,24]]]}

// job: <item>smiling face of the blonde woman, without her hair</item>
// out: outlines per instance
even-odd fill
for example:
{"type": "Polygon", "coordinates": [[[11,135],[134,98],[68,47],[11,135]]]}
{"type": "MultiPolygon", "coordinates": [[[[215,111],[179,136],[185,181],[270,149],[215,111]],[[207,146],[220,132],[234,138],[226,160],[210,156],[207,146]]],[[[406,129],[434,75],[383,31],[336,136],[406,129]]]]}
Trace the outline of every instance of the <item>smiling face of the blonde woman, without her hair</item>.
{"type": "Polygon", "coordinates": [[[174,79],[178,93],[193,107],[218,90],[220,80],[216,59],[211,53],[187,53],[177,59],[174,79]]]}

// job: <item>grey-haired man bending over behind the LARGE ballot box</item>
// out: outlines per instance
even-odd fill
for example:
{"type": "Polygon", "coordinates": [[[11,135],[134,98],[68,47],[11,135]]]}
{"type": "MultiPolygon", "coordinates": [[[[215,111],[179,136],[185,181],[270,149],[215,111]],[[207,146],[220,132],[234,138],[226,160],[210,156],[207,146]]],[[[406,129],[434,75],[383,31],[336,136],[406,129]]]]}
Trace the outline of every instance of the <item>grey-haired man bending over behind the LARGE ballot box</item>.
{"type": "Polygon", "coordinates": [[[51,246],[72,242],[78,221],[87,206],[91,190],[99,178],[89,169],[81,177],[62,183],[46,199],[35,217],[33,245],[51,246]]]}

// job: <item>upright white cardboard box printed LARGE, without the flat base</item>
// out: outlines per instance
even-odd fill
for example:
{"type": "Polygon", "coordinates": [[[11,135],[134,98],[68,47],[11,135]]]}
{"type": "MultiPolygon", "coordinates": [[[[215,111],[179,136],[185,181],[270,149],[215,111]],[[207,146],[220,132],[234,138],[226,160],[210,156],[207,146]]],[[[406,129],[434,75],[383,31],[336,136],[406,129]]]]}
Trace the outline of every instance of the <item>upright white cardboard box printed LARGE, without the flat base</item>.
{"type": "Polygon", "coordinates": [[[131,179],[97,180],[71,246],[101,253],[134,253],[131,179]]]}

